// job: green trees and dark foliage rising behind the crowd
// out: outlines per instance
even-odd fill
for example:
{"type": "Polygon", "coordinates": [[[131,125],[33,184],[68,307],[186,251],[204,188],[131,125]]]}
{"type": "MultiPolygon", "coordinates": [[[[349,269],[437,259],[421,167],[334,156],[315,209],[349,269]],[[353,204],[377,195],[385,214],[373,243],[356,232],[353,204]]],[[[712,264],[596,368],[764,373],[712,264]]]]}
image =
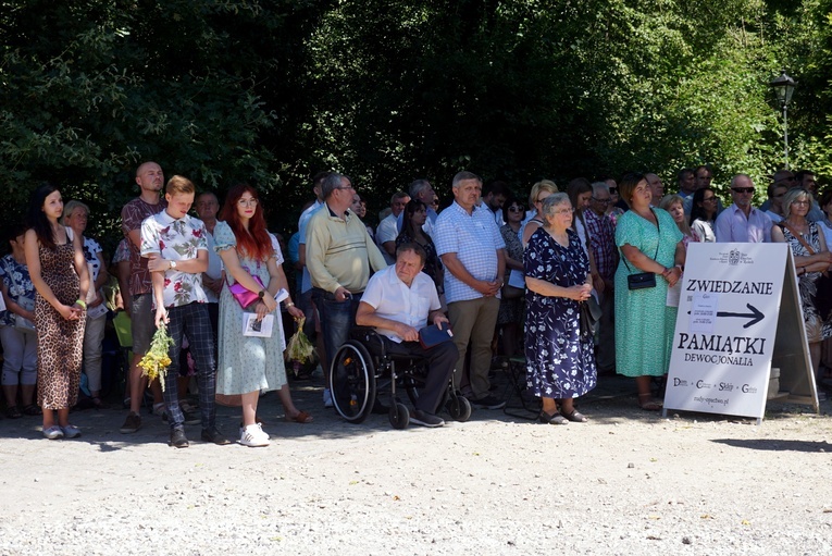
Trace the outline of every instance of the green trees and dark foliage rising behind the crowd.
{"type": "MultiPolygon", "coordinates": [[[[832,173],[832,0],[11,1],[0,12],[3,218],[36,183],[95,215],[133,172],[258,184],[294,227],[309,177],[353,177],[371,213],[460,169],[524,191],[710,163],[783,164],[768,82],[798,81],[793,166],[832,173]]],[[[94,220],[95,222],[95,220],[94,220]]],[[[98,220],[117,231],[115,219],[98,220]]]]}

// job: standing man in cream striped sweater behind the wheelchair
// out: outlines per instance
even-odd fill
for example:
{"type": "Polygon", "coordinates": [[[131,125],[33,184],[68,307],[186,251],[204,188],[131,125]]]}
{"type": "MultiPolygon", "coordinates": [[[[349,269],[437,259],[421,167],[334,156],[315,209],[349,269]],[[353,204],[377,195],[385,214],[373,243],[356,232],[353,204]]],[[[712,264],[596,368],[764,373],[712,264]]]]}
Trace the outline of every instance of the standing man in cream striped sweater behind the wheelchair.
{"type": "MultiPolygon", "coordinates": [[[[328,361],[349,338],[370,267],[376,272],[387,268],[361,219],[348,210],[355,193],[349,177],[328,174],[321,186],[323,206],[309,219],[306,231],[306,262],[328,361]]],[[[324,378],[328,384],[327,367],[324,378]]],[[[330,405],[332,394],[325,388],[324,406],[330,405]]]]}

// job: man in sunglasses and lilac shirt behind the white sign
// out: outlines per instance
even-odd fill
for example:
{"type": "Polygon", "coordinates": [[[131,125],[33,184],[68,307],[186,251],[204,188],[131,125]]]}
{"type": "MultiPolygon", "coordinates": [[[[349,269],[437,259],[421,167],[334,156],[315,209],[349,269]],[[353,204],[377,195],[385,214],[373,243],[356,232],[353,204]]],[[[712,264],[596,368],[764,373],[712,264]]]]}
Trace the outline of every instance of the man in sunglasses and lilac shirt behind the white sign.
{"type": "Polygon", "coordinates": [[[771,219],[760,209],[752,207],[754,182],[746,174],[731,180],[731,198],[734,203],[717,217],[713,232],[719,243],[769,243],[771,219]]]}

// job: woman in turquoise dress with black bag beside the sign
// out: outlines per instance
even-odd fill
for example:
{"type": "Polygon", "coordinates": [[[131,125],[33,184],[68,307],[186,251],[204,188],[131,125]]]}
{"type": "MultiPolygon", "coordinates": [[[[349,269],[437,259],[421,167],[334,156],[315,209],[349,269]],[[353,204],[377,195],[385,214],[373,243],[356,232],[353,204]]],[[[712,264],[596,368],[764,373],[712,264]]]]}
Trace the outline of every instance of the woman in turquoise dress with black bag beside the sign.
{"type": "Polygon", "coordinates": [[[651,376],[668,372],[675,311],[667,307],[667,294],[682,275],[685,247],[673,218],[650,207],[650,188],[642,174],[624,175],[619,193],[630,210],[616,226],[621,255],[616,271],[616,368],[635,378],[642,409],[658,411],[661,403],[654,399],[650,383],[651,376]],[[631,289],[628,276],[641,273],[653,274],[655,285],[631,289]]]}

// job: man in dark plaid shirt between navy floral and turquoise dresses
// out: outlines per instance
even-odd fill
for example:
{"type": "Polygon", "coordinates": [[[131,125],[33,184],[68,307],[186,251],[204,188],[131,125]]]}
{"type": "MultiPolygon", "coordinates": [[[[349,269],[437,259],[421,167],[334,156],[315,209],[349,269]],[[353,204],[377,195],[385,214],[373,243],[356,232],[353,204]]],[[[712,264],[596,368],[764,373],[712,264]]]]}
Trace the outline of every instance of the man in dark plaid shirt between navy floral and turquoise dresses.
{"type": "Polygon", "coordinates": [[[595,182],[589,210],[584,211],[584,221],[595,257],[593,285],[601,308],[595,356],[599,372],[612,372],[616,368],[616,324],[612,321],[612,313],[616,308],[613,287],[618,268],[618,248],[616,247],[616,230],[606,214],[609,203],[609,186],[604,182],[595,182]]]}

